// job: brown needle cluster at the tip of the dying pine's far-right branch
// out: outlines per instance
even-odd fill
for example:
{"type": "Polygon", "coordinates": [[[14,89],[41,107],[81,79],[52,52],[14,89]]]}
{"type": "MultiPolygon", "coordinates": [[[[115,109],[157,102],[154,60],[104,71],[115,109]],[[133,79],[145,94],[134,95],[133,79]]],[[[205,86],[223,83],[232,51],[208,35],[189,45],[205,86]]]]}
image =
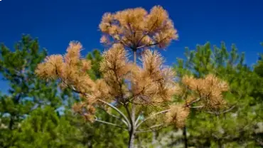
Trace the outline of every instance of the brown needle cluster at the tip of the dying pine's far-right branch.
{"type": "Polygon", "coordinates": [[[185,76],[182,82],[194,92],[189,102],[194,101],[194,97],[197,97],[200,99],[199,102],[208,109],[218,109],[225,105],[222,93],[226,92],[229,86],[215,75],[210,74],[206,75],[205,78],[199,79],[185,76]]]}

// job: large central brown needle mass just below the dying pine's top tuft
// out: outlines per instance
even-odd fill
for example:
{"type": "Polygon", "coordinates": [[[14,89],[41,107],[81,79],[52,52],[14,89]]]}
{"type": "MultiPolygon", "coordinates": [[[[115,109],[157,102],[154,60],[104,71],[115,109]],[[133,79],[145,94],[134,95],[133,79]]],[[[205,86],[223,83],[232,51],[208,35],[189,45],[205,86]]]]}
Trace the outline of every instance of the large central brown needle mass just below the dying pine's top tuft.
{"type": "Polygon", "coordinates": [[[162,68],[163,58],[147,50],[141,58],[142,67],[128,60],[121,44],[104,52],[100,68],[112,97],[119,102],[156,105],[170,101],[176,92],[171,68],[162,68]],[[126,83],[124,83],[126,82],[126,83]]]}

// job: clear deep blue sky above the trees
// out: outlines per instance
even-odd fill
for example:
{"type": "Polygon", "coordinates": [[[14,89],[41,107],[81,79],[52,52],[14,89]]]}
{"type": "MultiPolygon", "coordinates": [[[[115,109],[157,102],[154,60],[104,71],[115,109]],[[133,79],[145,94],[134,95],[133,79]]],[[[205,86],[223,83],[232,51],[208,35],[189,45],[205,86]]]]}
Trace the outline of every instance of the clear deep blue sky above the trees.
{"type": "MultiPolygon", "coordinates": [[[[9,0],[0,2],[0,42],[13,47],[22,33],[38,37],[41,46],[50,54],[65,53],[69,41],[80,41],[85,47],[83,55],[100,45],[98,25],[104,12],[127,8],[144,7],[149,10],[154,5],[166,9],[174,21],[179,40],[162,52],[168,64],[176,57],[183,58],[186,46],[191,49],[196,44],[210,41],[227,47],[235,43],[239,51],[244,51],[250,65],[262,53],[263,41],[263,1],[262,0],[9,0]]],[[[0,82],[0,89],[4,83],[0,82]]]]}

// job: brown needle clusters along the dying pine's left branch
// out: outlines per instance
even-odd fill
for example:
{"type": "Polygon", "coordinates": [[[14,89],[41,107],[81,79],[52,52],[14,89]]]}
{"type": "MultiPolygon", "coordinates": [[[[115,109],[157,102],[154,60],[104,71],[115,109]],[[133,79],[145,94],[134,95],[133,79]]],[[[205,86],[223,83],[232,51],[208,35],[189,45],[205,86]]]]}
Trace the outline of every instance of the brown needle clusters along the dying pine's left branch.
{"type": "Polygon", "coordinates": [[[73,107],[77,112],[82,113],[88,120],[92,120],[90,114],[84,112],[95,113],[92,106],[97,98],[108,98],[107,85],[102,80],[93,81],[87,74],[87,70],[91,68],[90,61],[80,58],[80,50],[82,45],[79,42],[70,42],[65,56],[52,55],[45,58],[36,68],[36,74],[46,80],[60,80],[62,88],[71,88],[82,97],[89,99],[82,102],[79,106],[73,107]]]}

